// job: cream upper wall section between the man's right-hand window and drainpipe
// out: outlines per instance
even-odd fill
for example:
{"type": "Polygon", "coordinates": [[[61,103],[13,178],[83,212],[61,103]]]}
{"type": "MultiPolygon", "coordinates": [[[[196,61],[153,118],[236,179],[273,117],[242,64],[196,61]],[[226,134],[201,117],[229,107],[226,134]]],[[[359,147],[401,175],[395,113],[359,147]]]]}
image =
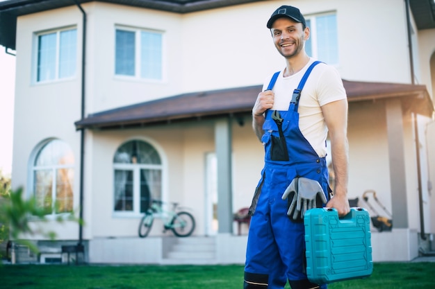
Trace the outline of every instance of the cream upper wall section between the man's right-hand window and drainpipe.
{"type": "Polygon", "coordinates": [[[404,1],[341,0],[338,3],[342,77],[410,83],[404,1]]]}

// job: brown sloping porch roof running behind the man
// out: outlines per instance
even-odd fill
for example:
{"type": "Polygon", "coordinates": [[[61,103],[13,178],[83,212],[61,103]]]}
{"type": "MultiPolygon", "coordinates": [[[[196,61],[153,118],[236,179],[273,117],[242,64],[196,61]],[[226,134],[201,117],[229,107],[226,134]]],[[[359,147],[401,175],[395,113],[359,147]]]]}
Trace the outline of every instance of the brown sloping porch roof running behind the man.
{"type": "MultiPolygon", "coordinates": [[[[406,109],[432,116],[434,105],[425,85],[343,80],[350,103],[400,98],[406,109]]],[[[210,119],[219,116],[250,114],[262,86],[215,91],[199,91],[120,107],[96,114],[75,123],[81,128],[132,128],[145,125],[210,119]]]]}

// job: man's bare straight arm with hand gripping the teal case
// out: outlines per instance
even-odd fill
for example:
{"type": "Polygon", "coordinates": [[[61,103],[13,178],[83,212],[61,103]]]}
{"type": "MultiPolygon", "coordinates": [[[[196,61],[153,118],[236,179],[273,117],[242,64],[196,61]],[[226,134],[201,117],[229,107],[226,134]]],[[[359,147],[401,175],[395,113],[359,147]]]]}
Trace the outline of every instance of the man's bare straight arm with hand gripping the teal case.
{"type": "Polygon", "coordinates": [[[350,211],[347,200],[348,157],[347,143],[347,100],[337,100],[322,106],[323,116],[329,130],[331,141],[332,166],[335,174],[334,198],[327,207],[337,209],[339,216],[350,211]]]}

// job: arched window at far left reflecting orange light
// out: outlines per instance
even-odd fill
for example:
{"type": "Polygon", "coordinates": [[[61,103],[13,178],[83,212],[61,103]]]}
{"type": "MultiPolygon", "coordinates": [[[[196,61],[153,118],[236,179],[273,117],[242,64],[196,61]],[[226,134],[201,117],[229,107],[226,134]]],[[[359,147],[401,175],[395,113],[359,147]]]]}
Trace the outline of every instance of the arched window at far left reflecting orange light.
{"type": "Polygon", "coordinates": [[[33,163],[33,193],[47,215],[73,209],[74,154],[64,141],[54,139],[38,152],[33,163]]]}

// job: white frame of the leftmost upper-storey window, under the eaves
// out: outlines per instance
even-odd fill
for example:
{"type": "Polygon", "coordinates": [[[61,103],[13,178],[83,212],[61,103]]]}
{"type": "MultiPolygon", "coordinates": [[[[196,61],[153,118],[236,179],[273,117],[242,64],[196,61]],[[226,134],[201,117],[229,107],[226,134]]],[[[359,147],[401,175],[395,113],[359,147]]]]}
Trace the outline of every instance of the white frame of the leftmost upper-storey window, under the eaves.
{"type": "Polygon", "coordinates": [[[56,28],[56,29],[51,29],[51,30],[44,30],[44,31],[40,31],[37,33],[34,33],[34,41],[33,41],[33,83],[35,84],[41,84],[41,83],[47,83],[47,82],[56,82],[56,81],[63,81],[63,80],[72,80],[74,78],[76,78],[77,76],[77,60],[78,60],[78,53],[79,53],[79,49],[77,47],[77,45],[79,44],[79,38],[78,38],[78,30],[76,26],[67,26],[67,27],[63,27],[63,28],[56,28]],[[67,30],[76,30],[76,35],[77,35],[77,39],[76,39],[76,69],[74,71],[74,74],[72,76],[68,76],[68,77],[64,77],[64,78],[60,78],[59,77],[59,67],[60,67],[60,33],[62,31],[67,31],[67,30]],[[51,33],[56,33],[56,63],[55,63],[55,76],[53,79],[50,80],[38,80],[38,60],[39,60],[39,51],[38,51],[38,47],[39,47],[39,39],[40,36],[42,35],[48,35],[51,33]]]}

